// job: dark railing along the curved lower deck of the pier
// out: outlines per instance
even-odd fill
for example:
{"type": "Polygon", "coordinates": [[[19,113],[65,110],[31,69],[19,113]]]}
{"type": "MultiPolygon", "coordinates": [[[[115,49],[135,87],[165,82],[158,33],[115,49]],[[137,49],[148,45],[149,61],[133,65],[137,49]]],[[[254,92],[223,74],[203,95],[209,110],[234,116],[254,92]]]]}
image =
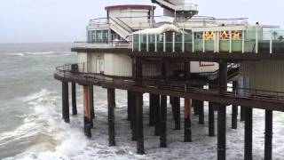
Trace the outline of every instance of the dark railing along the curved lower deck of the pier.
{"type": "MultiPolygon", "coordinates": [[[[84,63],[77,64],[84,68],[84,63]]],[[[266,101],[281,101],[284,103],[284,92],[275,92],[268,90],[259,90],[252,88],[235,88],[220,87],[219,85],[210,85],[209,87],[196,87],[196,84],[189,82],[167,81],[154,78],[133,78],[129,76],[108,76],[97,73],[85,73],[84,71],[75,71],[71,69],[71,64],[60,66],[57,69],[56,75],[61,78],[66,78],[70,81],[83,82],[86,84],[97,84],[107,87],[108,85],[116,85],[120,87],[138,86],[145,88],[155,88],[159,90],[167,90],[171,92],[190,92],[202,93],[217,96],[225,96],[229,98],[242,98],[249,100],[266,100],[266,101]]],[[[83,70],[83,69],[79,69],[83,70]]]]}

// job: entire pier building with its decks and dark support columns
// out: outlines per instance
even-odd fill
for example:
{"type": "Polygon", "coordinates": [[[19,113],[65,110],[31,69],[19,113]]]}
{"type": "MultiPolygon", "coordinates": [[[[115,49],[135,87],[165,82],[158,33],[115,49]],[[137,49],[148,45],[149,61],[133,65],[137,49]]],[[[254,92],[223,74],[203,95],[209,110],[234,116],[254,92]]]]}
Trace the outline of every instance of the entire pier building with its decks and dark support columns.
{"type": "MultiPolygon", "coordinates": [[[[150,121],[161,147],[167,146],[167,96],[180,129],[180,99],[185,99],[185,142],[191,141],[191,108],[204,124],[209,101],[209,136],[215,135],[217,108],[218,159],[225,159],[226,107],[233,105],[233,129],[238,106],[245,110],[245,159],[252,158],[252,108],[265,109],[265,157],[272,159],[272,111],[284,111],[284,31],[275,25],[249,24],[246,18],[197,16],[196,4],[153,0],[164,9],[155,16],[152,5],[106,7],[106,18],[90,20],[87,42],[75,43],[78,64],[57,68],[62,82],[63,117],[69,121],[67,85],[83,85],[84,129],[91,136],[93,85],[107,89],[109,142],[114,139],[114,92],[128,91],[128,119],[138,154],[144,154],[143,94],[150,94],[150,121]],[[233,84],[232,88],[228,84],[233,84]],[[152,123],[153,125],[153,123],[152,123]]],[[[243,113],[243,112],[242,112],[243,113]]]]}

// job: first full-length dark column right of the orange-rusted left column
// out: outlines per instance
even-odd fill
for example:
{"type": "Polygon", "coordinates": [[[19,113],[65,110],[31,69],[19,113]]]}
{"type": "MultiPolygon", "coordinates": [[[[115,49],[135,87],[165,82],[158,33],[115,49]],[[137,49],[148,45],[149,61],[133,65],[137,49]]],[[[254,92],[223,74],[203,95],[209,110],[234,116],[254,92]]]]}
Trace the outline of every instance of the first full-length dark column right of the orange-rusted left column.
{"type": "Polygon", "coordinates": [[[114,89],[107,89],[107,103],[108,103],[108,142],[109,146],[115,146],[114,89]]]}

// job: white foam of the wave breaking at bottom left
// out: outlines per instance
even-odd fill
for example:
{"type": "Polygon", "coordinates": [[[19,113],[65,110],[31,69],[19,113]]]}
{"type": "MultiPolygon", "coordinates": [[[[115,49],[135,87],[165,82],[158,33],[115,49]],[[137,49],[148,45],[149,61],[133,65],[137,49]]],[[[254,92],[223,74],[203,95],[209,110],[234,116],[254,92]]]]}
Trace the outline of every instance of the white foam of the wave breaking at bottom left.
{"type": "Polygon", "coordinates": [[[87,146],[80,127],[83,118],[72,118],[70,124],[63,123],[59,99],[58,93],[45,89],[20,99],[33,108],[33,112],[25,117],[20,127],[1,134],[0,146],[16,143],[17,140],[35,142],[24,153],[7,159],[60,159],[75,156],[87,146]]]}

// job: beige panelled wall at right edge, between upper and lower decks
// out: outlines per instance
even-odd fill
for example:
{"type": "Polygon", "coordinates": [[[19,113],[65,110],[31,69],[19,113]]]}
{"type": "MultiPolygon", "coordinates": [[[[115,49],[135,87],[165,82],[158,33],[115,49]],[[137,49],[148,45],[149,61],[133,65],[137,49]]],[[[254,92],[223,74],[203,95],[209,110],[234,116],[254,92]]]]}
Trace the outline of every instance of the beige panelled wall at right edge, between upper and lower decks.
{"type": "Polygon", "coordinates": [[[245,61],[241,76],[249,79],[250,88],[284,92],[284,62],[280,60],[245,61]]]}

